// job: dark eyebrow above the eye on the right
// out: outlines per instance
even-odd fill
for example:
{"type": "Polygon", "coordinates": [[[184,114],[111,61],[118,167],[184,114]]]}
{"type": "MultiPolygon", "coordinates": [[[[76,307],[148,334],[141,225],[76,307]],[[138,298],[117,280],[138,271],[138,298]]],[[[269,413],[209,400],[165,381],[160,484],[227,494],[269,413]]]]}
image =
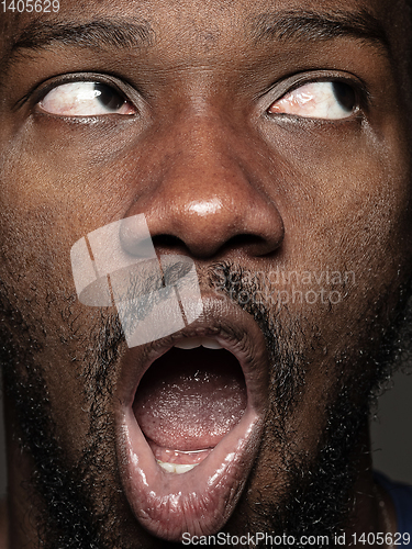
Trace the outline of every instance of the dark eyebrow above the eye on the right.
{"type": "Polygon", "coordinates": [[[349,12],[287,11],[261,13],[252,20],[252,35],[256,42],[277,40],[326,42],[349,37],[385,48],[390,44],[380,21],[366,10],[349,12]]]}

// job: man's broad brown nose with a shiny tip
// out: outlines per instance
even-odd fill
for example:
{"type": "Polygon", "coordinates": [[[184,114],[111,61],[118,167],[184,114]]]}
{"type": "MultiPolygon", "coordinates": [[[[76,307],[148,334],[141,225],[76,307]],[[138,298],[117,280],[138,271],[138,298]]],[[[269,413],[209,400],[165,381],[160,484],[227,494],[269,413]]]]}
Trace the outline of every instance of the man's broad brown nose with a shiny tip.
{"type": "MultiPolygon", "coordinates": [[[[271,254],[283,239],[282,219],[267,193],[265,175],[259,177],[253,166],[256,158],[243,147],[242,154],[242,143],[215,121],[186,121],[185,130],[172,132],[157,147],[163,150],[160,168],[157,173],[153,168],[149,192],[136,200],[127,216],[145,214],[158,250],[203,259],[231,254],[238,258],[240,251],[271,254]]],[[[124,232],[126,248],[133,247],[133,226],[124,232]]]]}

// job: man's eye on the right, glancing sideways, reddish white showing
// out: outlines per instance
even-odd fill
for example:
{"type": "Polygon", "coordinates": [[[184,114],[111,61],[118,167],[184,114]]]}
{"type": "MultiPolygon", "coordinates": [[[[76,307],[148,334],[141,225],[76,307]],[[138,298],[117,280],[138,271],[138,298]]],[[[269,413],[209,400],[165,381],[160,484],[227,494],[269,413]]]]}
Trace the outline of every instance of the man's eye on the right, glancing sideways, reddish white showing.
{"type": "Polygon", "coordinates": [[[309,82],[272,103],[270,114],[293,114],[304,119],[342,120],[357,109],[354,88],[345,82],[309,82]]]}

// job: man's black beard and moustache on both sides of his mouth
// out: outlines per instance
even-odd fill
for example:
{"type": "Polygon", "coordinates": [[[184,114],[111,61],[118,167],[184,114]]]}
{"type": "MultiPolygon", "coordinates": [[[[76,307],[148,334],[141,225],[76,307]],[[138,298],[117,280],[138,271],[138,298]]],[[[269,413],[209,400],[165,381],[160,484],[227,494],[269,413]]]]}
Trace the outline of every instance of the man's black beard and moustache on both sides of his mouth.
{"type": "MultiPolygon", "coordinates": [[[[241,269],[230,264],[213,266],[209,271],[212,288],[219,270],[226,273],[227,280],[233,280],[233,273],[238,273],[241,269]]],[[[255,290],[241,277],[231,299],[236,301],[236,292],[255,290]]],[[[82,457],[75,466],[68,467],[65,451],[58,442],[47,386],[36,362],[42,341],[34,339],[34,330],[11,305],[9,296],[12,294],[12,289],[1,287],[1,305],[8,320],[3,323],[1,336],[8,343],[3,345],[0,358],[7,397],[15,410],[20,444],[34,462],[29,497],[33,502],[40,497],[42,502],[40,508],[43,512],[37,513],[40,546],[45,549],[176,547],[176,544],[166,541],[151,541],[149,537],[132,539],[124,534],[134,518],[122,494],[116,472],[114,422],[108,413],[120,347],[124,345],[118,317],[101,313],[90,335],[82,336],[85,348],[90,349],[83,357],[82,373],[90,404],[90,428],[82,457]]],[[[405,301],[404,294],[401,300],[403,307],[405,301]]],[[[407,309],[408,314],[404,309],[403,314],[398,314],[396,323],[383,337],[380,352],[370,357],[376,366],[374,378],[345,385],[346,389],[337,391],[326,404],[327,425],[314,458],[294,456],[285,428],[286,416],[299,403],[299,390],[305,380],[304,341],[299,336],[303,333],[302,326],[298,318],[286,322],[290,315],[281,310],[275,314],[265,305],[253,302],[242,307],[261,328],[270,362],[277,365],[271,372],[272,400],[277,402],[278,410],[285,411],[285,415],[278,417],[279,414],[276,414],[275,419],[272,414],[263,445],[276,440],[288,470],[287,497],[264,509],[245,504],[248,505],[248,513],[242,516],[243,529],[286,533],[296,539],[302,535],[332,537],[343,530],[350,513],[349,493],[357,472],[354,450],[368,417],[370,395],[392,368],[392,359],[399,349],[399,325],[408,324],[412,307],[407,309]],[[359,402],[363,405],[359,406],[359,402]]],[[[335,357],[335,371],[345,371],[347,360],[345,356],[335,357]]],[[[243,508],[242,500],[240,507],[243,508]]],[[[238,522],[230,519],[227,531],[236,524],[238,522]]]]}

